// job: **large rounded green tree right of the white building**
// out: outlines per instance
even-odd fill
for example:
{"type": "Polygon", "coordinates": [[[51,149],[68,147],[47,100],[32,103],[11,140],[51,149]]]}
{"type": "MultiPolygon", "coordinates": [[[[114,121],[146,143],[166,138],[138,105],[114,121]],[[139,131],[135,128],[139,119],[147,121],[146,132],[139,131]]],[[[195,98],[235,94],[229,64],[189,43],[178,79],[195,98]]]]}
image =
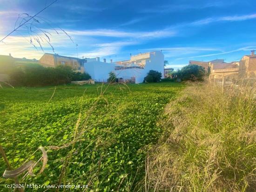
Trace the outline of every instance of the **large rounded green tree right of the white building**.
{"type": "Polygon", "coordinates": [[[178,70],[177,73],[177,78],[181,79],[182,81],[184,80],[203,80],[203,77],[205,76],[205,70],[202,66],[198,65],[188,65],[182,67],[181,70],[178,70]]]}

